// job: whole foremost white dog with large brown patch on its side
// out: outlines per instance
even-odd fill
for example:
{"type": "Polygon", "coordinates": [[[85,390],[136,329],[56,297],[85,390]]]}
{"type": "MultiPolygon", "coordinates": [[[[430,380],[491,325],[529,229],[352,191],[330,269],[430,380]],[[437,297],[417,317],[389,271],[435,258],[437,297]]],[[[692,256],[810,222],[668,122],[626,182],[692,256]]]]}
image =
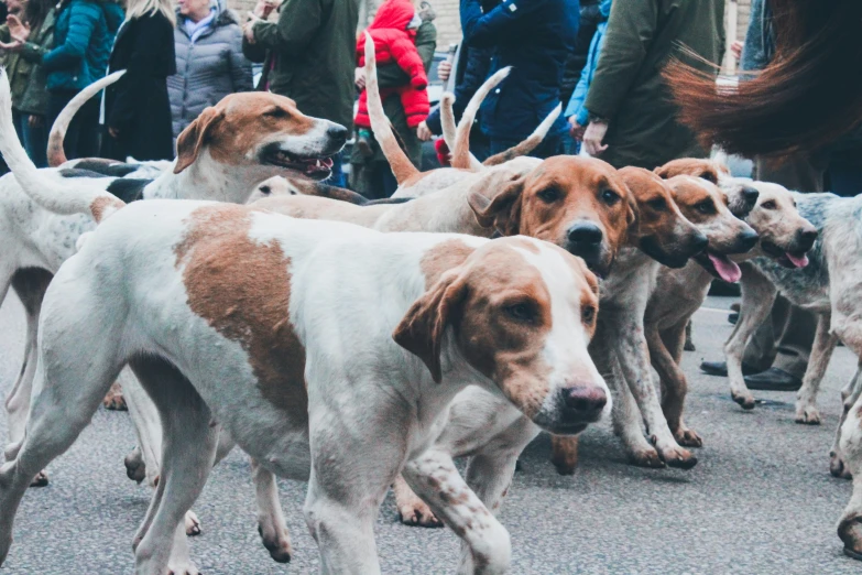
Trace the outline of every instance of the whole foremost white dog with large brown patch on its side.
{"type": "MultiPolygon", "coordinates": [[[[20,145],[2,151],[28,170],[20,145]]],[[[25,185],[40,177],[30,169],[25,185]]],[[[57,191],[35,197],[45,188],[57,191]]],[[[106,197],[85,193],[74,206],[106,197]]],[[[552,433],[610,406],[587,354],[597,280],[547,242],[379,234],[203,202],[106,218],[45,296],[33,415],[0,468],[0,557],[29,478],[68,448],[127,362],[165,422],[164,473],[135,539],[145,574],[168,566],[215,458],[215,421],[268,469],[309,478],[325,573],[380,571],[373,520],[402,468],[465,541],[462,571],[503,573],[505,529],[428,449],[451,399],[477,386],[552,433]]]]}

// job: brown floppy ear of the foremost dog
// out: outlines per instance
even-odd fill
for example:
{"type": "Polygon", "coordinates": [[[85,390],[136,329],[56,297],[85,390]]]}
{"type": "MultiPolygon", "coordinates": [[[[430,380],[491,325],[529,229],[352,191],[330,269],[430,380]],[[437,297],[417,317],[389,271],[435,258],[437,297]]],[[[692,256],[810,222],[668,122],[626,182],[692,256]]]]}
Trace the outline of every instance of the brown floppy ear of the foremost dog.
{"type": "Polygon", "coordinates": [[[397,345],[422,359],[432,373],[434,381],[443,380],[440,368],[440,345],[443,334],[452,316],[454,310],[467,293],[467,283],[459,270],[446,272],[430,290],[413,302],[399,323],[392,339],[397,345]]]}

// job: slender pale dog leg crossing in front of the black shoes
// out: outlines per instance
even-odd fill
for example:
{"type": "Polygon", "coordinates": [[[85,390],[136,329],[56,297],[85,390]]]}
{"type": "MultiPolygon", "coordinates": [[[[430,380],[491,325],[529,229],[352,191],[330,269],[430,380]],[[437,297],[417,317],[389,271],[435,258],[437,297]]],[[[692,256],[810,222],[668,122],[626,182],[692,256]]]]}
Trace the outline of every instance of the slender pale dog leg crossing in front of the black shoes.
{"type": "Polygon", "coordinates": [[[745,386],[745,378],[742,375],[742,356],[754,333],[770,316],[772,304],[778,292],[772,282],[751,263],[741,263],[740,268],[742,269],[740,318],[724,344],[724,357],[728,361],[730,395],[742,409],[753,410],[754,395],[745,386]]]}

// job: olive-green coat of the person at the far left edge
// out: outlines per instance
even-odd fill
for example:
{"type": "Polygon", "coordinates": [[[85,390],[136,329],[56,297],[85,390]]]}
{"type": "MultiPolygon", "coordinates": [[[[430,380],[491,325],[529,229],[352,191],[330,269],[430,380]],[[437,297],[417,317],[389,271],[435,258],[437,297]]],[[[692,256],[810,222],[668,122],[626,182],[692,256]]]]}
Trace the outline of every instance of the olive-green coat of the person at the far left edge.
{"type": "MultiPolygon", "coordinates": [[[[26,79],[24,89],[15,97],[15,86],[12,86],[12,107],[22,113],[46,116],[47,113],[47,75],[40,65],[42,53],[48,52],[54,45],[54,9],[47,11],[42,23],[30,31],[30,36],[21,48],[13,54],[18,57],[14,76],[26,79]]],[[[6,39],[3,39],[6,41],[6,39]]],[[[7,69],[11,64],[7,64],[7,69]]],[[[10,72],[10,77],[12,73],[10,72]]]]}

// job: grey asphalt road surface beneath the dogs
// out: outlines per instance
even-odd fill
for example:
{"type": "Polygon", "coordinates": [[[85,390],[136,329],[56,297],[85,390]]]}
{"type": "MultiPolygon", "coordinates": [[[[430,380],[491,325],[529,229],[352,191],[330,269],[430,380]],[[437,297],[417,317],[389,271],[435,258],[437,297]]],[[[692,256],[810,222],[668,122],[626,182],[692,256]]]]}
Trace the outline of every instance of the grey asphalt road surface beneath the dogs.
{"type": "MultiPolygon", "coordinates": [[[[727,310],[732,300],[710,299],[727,310]]],[[[850,498],[849,481],[828,473],[840,387],[855,366],[838,349],[821,389],[820,426],[797,425],[793,393],[763,393],[751,413],[730,400],[724,379],[698,375],[701,358],[719,356],[730,333],[723,313],[701,310],[687,421],[705,438],[690,471],[626,465],[608,424],[589,430],[574,477],[547,464],[541,437],[523,456],[501,520],[513,544],[513,573],[805,573],[859,574],[836,535],[850,498]]],[[[0,388],[20,366],[23,314],[13,295],[0,310],[0,388]]],[[[6,413],[0,415],[3,440],[6,413]]],[[[122,458],[134,445],[127,413],[99,410],[75,446],[54,462],[51,485],[31,489],[21,505],[15,542],[2,574],[118,574],[132,572],[131,541],[150,490],[126,478],[122,458]]],[[[292,530],[290,565],[270,560],[254,520],[248,459],[236,452],[212,473],[195,506],[204,532],[193,557],[207,575],[286,574],[317,569],[302,503],[305,485],[281,481],[292,530]]],[[[2,510],[0,510],[2,511],[2,510]]],[[[406,528],[388,497],[377,523],[384,573],[452,573],[458,543],[447,530],[406,528]]]]}

